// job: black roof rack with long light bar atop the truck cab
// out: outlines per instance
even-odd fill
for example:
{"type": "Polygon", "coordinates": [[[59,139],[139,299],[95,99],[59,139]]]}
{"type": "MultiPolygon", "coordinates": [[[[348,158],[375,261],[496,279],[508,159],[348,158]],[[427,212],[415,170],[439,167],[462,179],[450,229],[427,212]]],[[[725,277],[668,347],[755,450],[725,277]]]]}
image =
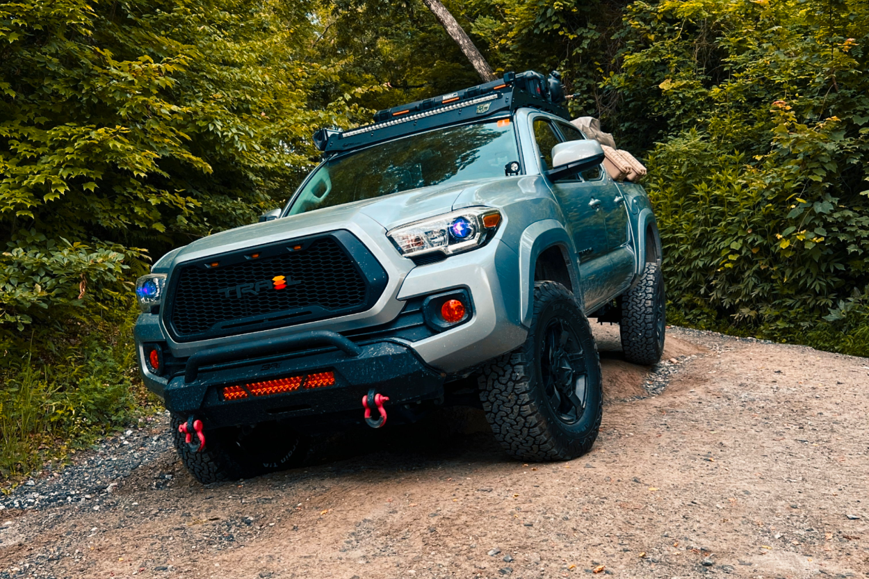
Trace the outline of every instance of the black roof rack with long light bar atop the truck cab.
{"type": "Polygon", "coordinates": [[[468,118],[484,118],[520,107],[546,110],[569,120],[567,109],[561,104],[564,100],[561,75],[557,72],[548,77],[534,70],[520,74],[507,72],[501,79],[490,83],[378,110],[373,124],[358,129],[318,130],[314,134],[314,143],[317,149],[327,153],[358,149],[421,130],[461,123],[468,118]]]}

